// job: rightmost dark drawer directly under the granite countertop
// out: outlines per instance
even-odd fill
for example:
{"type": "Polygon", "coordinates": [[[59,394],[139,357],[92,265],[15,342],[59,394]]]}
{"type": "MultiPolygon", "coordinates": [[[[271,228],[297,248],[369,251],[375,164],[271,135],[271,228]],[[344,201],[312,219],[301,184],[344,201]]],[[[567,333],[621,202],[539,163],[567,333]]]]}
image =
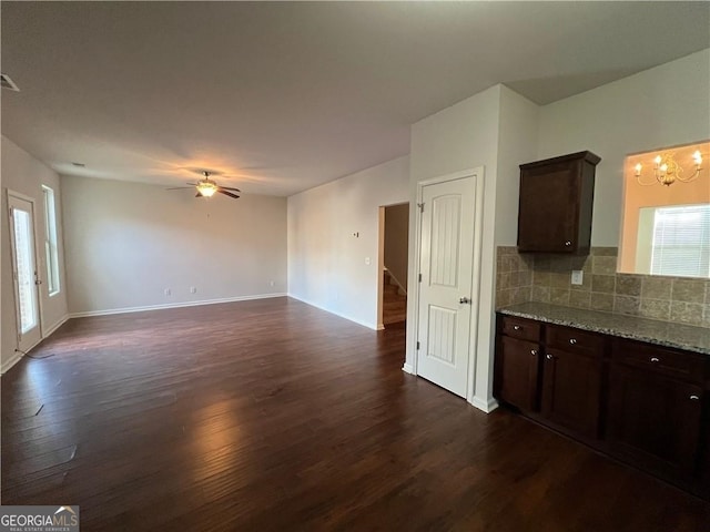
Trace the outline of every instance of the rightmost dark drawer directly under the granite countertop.
{"type": "Polygon", "coordinates": [[[629,340],[616,340],[615,361],[667,377],[702,382],[704,360],[700,356],[629,340]]]}

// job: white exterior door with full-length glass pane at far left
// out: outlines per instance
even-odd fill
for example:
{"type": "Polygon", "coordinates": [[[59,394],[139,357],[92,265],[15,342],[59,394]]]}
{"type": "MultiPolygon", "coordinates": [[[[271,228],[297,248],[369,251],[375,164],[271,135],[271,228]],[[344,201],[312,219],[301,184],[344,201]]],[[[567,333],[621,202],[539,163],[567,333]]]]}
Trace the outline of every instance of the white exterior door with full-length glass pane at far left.
{"type": "Polygon", "coordinates": [[[12,278],[18,323],[18,348],[27,351],[42,338],[40,328],[40,283],[34,242],[34,204],[8,193],[12,278]]]}

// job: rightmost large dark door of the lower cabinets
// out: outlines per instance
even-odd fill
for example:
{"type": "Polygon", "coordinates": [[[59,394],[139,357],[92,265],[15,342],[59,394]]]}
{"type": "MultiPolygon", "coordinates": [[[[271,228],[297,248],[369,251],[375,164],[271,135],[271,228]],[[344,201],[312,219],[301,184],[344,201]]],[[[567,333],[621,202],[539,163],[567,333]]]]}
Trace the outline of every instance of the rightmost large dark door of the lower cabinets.
{"type": "Polygon", "coordinates": [[[702,388],[650,371],[611,368],[608,437],[615,452],[665,473],[692,475],[702,388]]]}

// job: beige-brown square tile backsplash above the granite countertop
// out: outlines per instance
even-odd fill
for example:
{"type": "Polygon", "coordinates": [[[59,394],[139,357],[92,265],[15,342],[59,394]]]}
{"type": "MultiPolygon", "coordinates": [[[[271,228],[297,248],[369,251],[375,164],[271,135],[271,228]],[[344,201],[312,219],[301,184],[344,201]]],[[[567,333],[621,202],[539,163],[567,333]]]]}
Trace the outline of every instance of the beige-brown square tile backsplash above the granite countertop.
{"type": "Polygon", "coordinates": [[[618,274],[617,248],[588,256],[519,254],[497,249],[496,307],[552,303],[710,328],[710,279],[618,274]],[[571,273],[582,272],[582,284],[571,273]]]}

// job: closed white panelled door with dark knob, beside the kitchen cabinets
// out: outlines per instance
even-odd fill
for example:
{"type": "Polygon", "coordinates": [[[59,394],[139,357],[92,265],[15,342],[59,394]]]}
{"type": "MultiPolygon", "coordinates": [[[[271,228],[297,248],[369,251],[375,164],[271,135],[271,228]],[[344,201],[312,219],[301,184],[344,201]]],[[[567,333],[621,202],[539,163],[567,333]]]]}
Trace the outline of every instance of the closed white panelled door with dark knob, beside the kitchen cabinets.
{"type": "MultiPolygon", "coordinates": [[[[466,397],[476,177],[422,187],[417,374],[466,397]]],[[[475,297],[476,296],[476,297],[475,297]]]]}

